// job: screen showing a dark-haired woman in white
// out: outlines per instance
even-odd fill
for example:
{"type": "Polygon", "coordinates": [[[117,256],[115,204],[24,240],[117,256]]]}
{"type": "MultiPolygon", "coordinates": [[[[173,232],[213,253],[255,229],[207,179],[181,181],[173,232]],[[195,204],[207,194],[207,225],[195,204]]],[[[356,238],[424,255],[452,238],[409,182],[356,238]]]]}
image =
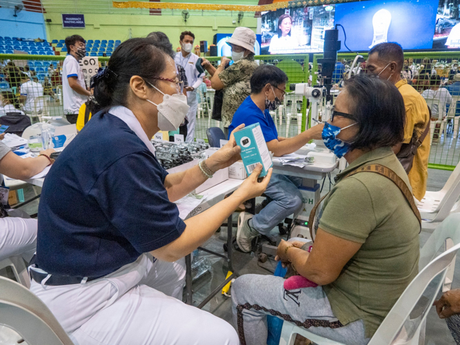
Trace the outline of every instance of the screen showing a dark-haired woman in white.
{"type": "Polygon", "coordinates": [[[261,54],[323,52],[324,31],[334,28],[334,5],[262,12],[261,54]]]}

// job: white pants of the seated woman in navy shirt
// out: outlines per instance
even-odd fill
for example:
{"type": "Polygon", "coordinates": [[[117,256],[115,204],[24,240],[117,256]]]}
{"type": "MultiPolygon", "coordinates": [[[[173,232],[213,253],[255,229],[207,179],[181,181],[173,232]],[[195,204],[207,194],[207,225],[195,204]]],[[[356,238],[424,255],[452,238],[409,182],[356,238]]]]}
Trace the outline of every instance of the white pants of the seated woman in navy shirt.
{"type": "Polygon", "coordinates": [[[77,345],[237,345],[223,319],[166,294],[181,295],[185,260],[168,263],[141,255],[86,284],[30,290],[50,308],[77,345]]]}

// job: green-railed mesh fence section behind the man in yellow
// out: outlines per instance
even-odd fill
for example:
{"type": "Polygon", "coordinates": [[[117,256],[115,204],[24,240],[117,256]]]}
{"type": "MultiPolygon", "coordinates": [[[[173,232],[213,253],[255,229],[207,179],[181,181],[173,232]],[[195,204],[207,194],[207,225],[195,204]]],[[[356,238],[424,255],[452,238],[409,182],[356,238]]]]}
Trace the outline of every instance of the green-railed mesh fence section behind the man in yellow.
{"type": "MultiPolygon", "coordinates": [[[[361,54],[367,59],[367,54],[361,54]]],[[[347,78],[354,53],[337,56],[334,83],[341,86],[347,78]],[[340,65],[341,63],[341,65],[340,65]]],[[[312,84],[317,83],[317,73],[321,66],[317,63],[322,55],[314,55],[312,84]]],[[[460,161],[458,139],[460,119],[460,71],[457,70],[460,52],[406,52],[401,77],[407,79],[417,92],[426,100],[432,112],[430,124],[430,167],[453,170],[460,161]]],[[[354,66],[352,74],[366,72],[365,64],[354,66]]],[[[335,94],[337,95],[337,94],[335,94]]]]}

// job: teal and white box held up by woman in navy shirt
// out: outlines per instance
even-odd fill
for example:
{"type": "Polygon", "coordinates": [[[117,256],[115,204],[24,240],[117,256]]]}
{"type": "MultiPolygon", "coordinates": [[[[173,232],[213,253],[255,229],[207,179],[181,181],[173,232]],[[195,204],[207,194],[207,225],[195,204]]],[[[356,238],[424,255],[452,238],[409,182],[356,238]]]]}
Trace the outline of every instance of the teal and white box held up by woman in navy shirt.
{"type": "Polygon", "coordinates": [[[266,176],[273,163],[259,122],[234,132],[234,139],[241,148],[241,159],[243,159],[243,165],[248,175],[260,163],[262,164],[262,172],[259,176],[266,176]]]}

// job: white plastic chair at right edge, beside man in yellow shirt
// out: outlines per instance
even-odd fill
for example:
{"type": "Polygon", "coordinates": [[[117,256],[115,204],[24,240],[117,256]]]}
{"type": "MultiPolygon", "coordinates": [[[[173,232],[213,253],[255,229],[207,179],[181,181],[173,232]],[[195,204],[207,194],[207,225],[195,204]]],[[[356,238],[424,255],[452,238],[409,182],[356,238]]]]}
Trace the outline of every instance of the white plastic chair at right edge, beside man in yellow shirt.
{"type": "Polygon", "coordinates": [[[436,228],[450,213],[460,212],[460,163],[457,164],[443,188],[426,192],[421,201],[414,199],[421,215],[423,230],[436,228]]]}

